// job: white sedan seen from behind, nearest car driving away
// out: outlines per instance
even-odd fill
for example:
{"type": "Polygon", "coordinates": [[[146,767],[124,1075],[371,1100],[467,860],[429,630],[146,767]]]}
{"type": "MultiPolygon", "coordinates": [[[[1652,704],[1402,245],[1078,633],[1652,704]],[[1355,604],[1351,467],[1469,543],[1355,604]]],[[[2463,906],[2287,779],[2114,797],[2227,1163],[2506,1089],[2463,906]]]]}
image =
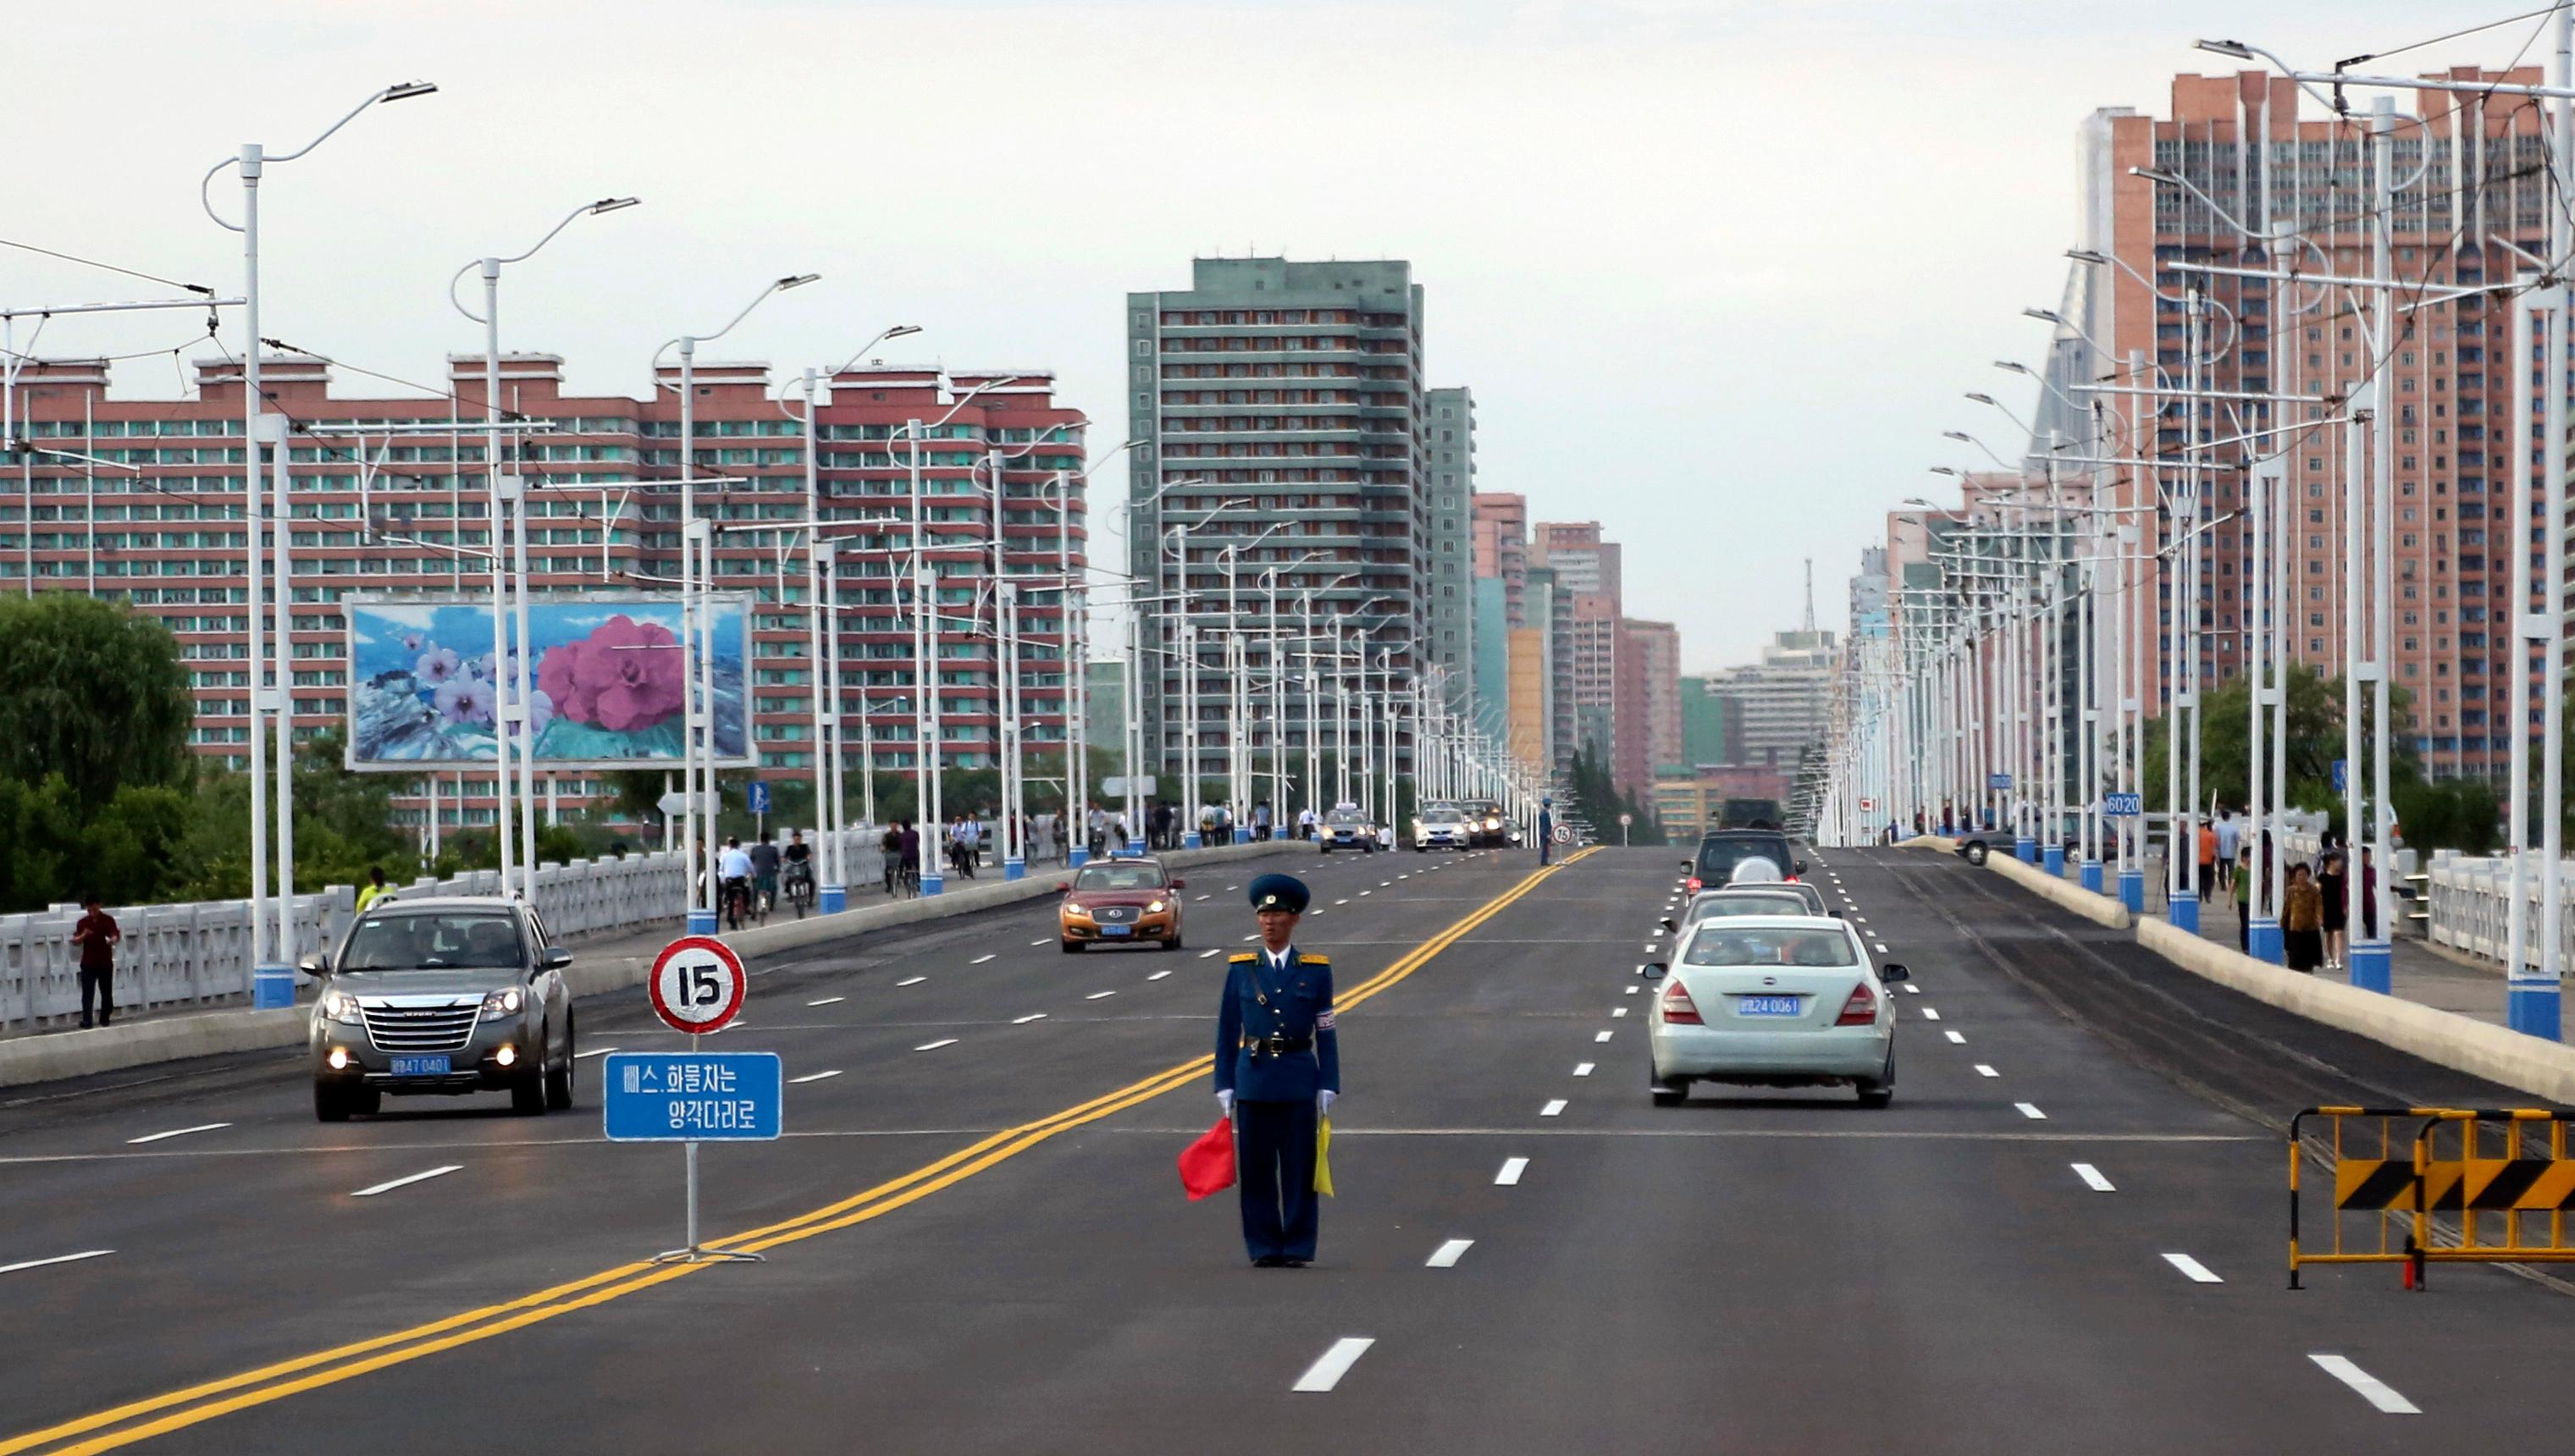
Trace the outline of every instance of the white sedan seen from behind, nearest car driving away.
{"type": "Polygon", "coordinates": [[[1849,1086],[1859,1106],[1895,1101],[1900,965],[1869,965],[1859,934],[1823,916],[1725,916],[1689,926],[1671,962],[1640,967],[1661,983],[1645,1016],[1653,1101],[1676,1106],[1689,1083],[1766,1088],[1849,1086]]]}

